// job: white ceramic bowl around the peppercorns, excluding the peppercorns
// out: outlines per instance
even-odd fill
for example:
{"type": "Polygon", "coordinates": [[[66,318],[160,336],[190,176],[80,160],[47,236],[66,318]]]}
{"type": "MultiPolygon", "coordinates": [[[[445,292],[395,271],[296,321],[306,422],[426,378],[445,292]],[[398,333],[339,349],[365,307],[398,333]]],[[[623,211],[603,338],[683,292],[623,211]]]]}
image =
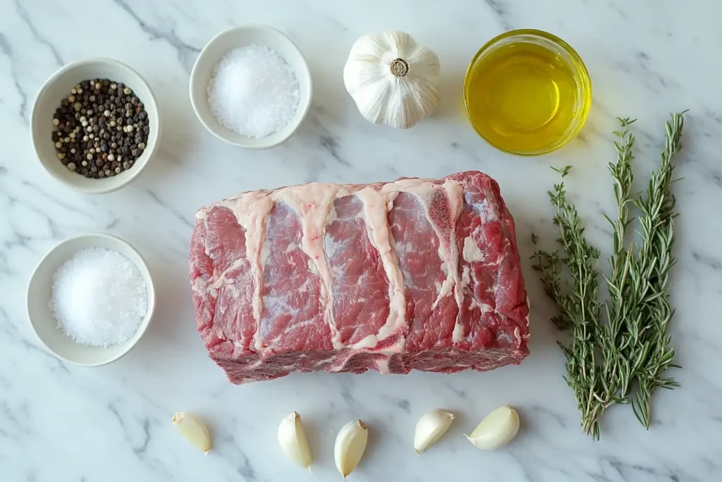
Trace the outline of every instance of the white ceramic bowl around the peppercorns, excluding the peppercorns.
{"type": "Polygon", "coordinates": [[[160,138],[160,115],[153,92],[138,72],[113,59],[84,59],[61,67],[40,87],[30,116],[30,136],[35,154],[45,171],[61,183],[85,194],[102,194],[125,186],[138,176],[152,158],[160,138]],[[61,100],[70,95],[70,90],[83,80],[110,79],[128,85],[145,106],[148,113],[150,132],[143,154],[135,164],[116,176],[100,179],[86,178],[69,171],[60,160],[53,143],[53,114],[61,100]]]}

